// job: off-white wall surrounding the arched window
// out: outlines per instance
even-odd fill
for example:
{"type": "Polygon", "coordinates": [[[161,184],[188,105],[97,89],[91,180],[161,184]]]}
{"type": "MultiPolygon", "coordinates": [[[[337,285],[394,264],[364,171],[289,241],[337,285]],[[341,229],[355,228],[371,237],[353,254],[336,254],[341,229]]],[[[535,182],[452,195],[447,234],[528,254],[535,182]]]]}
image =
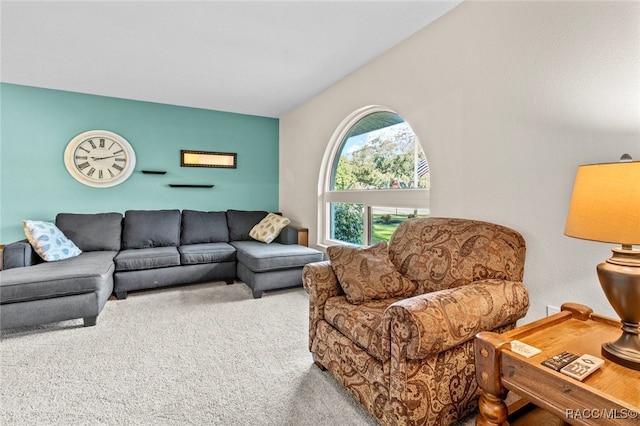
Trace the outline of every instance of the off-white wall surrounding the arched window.
{"type": "Polygon", "coordinates": [[[403,116],[431,169],[431,213],[527,241],[531,309],[615,315],[595,267],[610,245],[563,235],[576,168],[640,160],[639,2],[465,2],[280,120],[280,209],[317,241],[318,177],[344,117],[403,116]]]}

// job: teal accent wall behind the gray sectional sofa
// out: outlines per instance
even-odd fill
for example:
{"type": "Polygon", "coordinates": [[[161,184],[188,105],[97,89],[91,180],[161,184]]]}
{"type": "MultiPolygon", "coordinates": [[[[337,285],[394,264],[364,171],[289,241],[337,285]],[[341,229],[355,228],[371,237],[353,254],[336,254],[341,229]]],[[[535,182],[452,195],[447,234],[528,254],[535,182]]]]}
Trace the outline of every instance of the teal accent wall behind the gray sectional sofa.
{"type": "Polygon", "coordinates": [[[0,84],[0,244],[24,238],[23,219],[130,209],[278,210],[278,120],[0,84]],[[87,130],[123,136],[136,153],[124,183],[93,188],[63,154],[87,130]],[[180,167],[180,150],[235,152],[236,169],[180,167]],[[141,170],[166,170],[147,175],[141,170]],[[171,188],[169,183],[213,184],[171,188]]]}

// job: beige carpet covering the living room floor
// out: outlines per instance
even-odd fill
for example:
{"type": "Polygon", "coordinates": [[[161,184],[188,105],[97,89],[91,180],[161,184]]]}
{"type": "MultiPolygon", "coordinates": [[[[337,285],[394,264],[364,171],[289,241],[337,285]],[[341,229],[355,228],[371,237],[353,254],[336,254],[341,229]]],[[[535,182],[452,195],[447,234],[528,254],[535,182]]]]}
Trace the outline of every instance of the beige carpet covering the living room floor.
{"type": "Polygon", "coordinates": [[[301,288],[216,282],[110,300],[95,327],[4,331],[0,424],[376,425],[313,365],[307,309],[301,288]]]}

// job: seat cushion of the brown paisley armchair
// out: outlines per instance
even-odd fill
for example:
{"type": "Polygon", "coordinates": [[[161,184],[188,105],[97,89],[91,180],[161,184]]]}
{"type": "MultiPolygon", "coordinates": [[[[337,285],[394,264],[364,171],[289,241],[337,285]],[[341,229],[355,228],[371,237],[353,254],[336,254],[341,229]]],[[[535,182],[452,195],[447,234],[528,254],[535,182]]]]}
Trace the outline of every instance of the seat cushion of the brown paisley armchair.
{"type": "Polygon", "coordinates": [[[354,305],[345,296],[334,296],[327,299],[324,305],[324,318],[369,355],[384,362],[391,351],[383,347],[382,316],[385,309],[398,300],[402,300],[402,297],[369,300],[354,305]]]}

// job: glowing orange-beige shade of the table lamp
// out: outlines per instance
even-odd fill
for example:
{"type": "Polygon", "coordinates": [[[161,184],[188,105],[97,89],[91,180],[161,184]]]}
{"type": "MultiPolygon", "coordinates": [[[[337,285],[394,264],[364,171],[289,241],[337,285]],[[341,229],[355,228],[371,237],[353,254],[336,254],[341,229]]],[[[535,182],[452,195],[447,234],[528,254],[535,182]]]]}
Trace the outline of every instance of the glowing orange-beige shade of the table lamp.
{"type": "Polygon", "coordinates": [[[578,167],[564,233],[640,244],[640,161],[578,167]]]}

